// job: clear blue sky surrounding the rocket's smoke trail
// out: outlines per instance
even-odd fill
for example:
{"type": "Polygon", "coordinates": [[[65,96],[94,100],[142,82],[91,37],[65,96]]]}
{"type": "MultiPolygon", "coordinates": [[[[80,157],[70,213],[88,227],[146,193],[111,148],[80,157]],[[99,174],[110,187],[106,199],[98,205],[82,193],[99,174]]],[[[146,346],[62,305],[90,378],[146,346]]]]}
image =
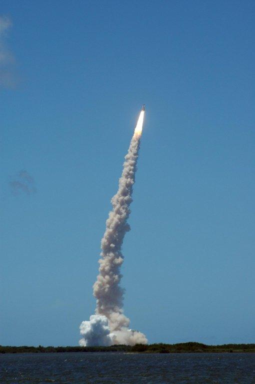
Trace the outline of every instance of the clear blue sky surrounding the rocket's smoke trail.
{"type": "Polygon", "coordinates": [[[149,342],[255,342],[254,13],[1,1],[0,344],[77,344],[143,103],[125,314],[149,342]]]}

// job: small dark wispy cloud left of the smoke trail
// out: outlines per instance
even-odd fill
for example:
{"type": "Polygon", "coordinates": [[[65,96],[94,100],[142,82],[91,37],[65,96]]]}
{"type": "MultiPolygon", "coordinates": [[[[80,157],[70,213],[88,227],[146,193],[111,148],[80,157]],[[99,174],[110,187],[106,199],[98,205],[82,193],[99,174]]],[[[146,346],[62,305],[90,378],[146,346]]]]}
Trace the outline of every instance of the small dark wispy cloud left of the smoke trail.
{"type": "Polygon", "coordinates": [[[36,193],[33,177],[25,170],[19,170],[9,181],[9,187],[14,195],[25,193],[27,195],[36,193]]]}

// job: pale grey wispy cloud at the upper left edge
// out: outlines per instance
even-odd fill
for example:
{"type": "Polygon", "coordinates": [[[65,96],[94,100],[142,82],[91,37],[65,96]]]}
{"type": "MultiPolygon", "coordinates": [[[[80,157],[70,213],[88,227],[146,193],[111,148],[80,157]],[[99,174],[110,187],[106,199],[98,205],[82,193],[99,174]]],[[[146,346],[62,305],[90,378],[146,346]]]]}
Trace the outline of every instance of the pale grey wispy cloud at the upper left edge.
{"type": "Polygon", "coordinates": [[[15,59],[8,49],[6,39],[12,26],[11,20],[6,16],[0,16],[0,86],[12,88],[16,85],[14,75],[15,59]]]}

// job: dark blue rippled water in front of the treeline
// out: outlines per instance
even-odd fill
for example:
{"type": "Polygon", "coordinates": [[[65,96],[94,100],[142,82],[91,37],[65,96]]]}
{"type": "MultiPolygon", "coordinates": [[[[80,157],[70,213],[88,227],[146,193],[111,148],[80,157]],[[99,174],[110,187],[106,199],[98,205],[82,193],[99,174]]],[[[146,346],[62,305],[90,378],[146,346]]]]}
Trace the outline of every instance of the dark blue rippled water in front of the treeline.
{"type": "Polygon", "coordinates": [[[4,384],[255,384],[255,353],[0,355],[4,384]]]}

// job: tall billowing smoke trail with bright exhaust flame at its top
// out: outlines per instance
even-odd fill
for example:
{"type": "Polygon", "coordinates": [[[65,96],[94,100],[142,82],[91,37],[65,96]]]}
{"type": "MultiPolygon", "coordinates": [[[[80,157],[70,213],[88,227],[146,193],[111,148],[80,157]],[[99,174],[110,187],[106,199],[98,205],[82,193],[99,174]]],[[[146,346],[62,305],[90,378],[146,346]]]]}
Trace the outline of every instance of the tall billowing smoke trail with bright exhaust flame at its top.
{"type": "Polygon", "coordinates": [[[112,197],[112,210],[106,220],[106,229],[101,240],[99,274],[93,285],[96,297],[95,315],[82,321],[80,345],[111,345],[146,343],[145,335],[129,329],[129,318],[123,314],[123,288],[120,287],[120,266],[123,262],[121,245],[130,229],[127,219],[130,214],[132,190],[136,171],[144,110],[141,110],[137,125],[123,163],[118,191],[112,197]]]}

